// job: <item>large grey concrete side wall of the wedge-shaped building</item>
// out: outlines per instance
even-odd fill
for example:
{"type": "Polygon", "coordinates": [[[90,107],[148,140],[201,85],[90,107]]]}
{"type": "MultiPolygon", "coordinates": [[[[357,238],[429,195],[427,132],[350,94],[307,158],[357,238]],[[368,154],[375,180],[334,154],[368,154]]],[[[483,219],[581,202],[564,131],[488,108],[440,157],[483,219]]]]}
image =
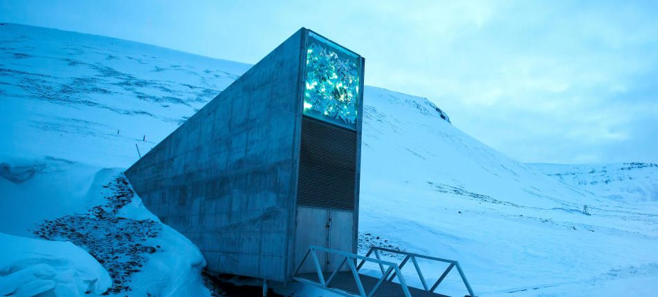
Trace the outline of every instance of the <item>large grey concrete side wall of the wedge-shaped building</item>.
{"type": "Polygon", "coordinates": [[[126,171],[149,210],[190,238],[211,271],[291,274],[304,30],[126,171]]]}

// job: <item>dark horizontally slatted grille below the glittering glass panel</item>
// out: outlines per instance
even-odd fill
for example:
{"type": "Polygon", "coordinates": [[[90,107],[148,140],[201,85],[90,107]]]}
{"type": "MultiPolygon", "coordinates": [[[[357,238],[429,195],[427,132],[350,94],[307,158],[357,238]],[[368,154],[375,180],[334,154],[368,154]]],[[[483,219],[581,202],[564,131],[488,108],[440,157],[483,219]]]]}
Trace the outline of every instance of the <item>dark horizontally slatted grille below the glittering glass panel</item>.
{"type": "Polygon", "coordinates": [[[354,211],[356,131],[302,117],[297,204],[354,211]]]}

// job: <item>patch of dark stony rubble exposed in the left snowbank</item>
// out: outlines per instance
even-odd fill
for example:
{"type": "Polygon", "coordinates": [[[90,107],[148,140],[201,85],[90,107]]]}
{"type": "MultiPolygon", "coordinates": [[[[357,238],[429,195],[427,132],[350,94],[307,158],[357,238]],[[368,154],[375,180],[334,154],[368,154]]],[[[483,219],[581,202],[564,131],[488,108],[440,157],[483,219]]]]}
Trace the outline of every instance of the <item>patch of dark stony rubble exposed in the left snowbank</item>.
{"type": "Polygon", "coordinates": [[[45,240],[66,240],[86,249],[112,277],[112,287],[105,294],[128,293],[130,276],[147,262],[145,255],[161,248],[149,244],[150,239],[158,237],[161,224],[118,215],[135,195],[124,176],[116,177],[104,188],[107,203],[86,213],[45,220],[33,232],[45,240]]]}

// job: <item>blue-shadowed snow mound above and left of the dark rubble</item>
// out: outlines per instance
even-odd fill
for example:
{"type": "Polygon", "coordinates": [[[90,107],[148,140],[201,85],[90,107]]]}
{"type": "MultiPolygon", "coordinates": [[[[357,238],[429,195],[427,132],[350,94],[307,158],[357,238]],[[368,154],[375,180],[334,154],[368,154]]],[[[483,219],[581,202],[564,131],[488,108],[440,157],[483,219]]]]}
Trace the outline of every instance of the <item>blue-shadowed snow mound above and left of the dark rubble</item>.
{"type": "Polygon", "coordinates": [[[53,157],[4,156],[0,164],[0,232],[17,236],[32,236],[42,220],[102,204],[97,189],[120,172],[53,157]]]}

